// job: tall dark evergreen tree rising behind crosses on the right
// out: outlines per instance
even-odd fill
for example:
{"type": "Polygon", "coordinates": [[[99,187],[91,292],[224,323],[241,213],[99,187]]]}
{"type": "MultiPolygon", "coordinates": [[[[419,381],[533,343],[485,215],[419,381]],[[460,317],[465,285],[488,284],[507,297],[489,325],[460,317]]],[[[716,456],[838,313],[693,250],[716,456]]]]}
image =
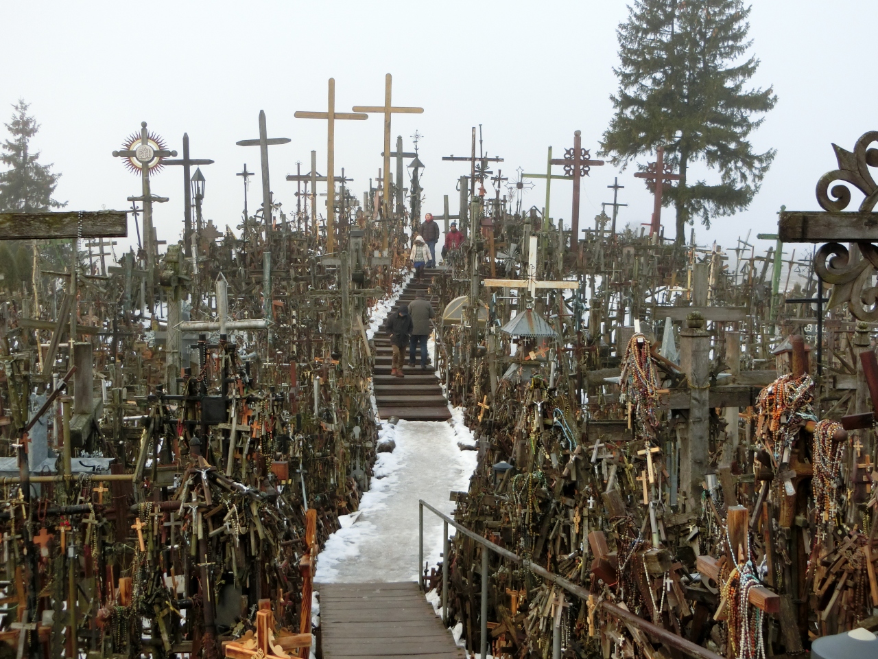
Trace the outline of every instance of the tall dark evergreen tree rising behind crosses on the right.
{"type": "Polygon", "coordinates": [[[771,87],[745,89],[759,60],[747,55],[751,10],[741,0],[635,0],[629,9],[616,31],[619,91],[610,97],[615,116],[601,151],[625,167],[665,148],[680,181],[666,184],[662,201],[675,207],[682,243],[694,217],[709,227],[711,218],[745,209],[759,192],[776,151],[754,153],[748,138],[777,97],[771,87]],[[718,181],[689,183],[694,162],[716,170],[718,181]]]}

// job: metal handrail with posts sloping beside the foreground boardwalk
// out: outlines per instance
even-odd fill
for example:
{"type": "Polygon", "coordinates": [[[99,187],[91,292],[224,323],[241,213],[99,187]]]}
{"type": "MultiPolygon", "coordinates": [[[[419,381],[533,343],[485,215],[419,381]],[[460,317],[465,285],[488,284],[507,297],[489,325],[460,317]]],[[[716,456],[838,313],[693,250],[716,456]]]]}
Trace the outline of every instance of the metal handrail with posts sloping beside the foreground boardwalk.
{"type": "MultiPolygon", "coordinates": [[[[448,554],[449,554],[449,537],[448,537],[448,525],[454,526],[457,531],[463,533],[467,538],[471,538],[478,542],[482,547],[487,547],[492,550],[495,554],[500,554],[503,558],[507,558],[510,561],[515,563],[520,563],[522,567],[528,568],[531,572],[542,576],[544,579],[548,579],[551,583],[555,583],[560,586],[567,592],[580,599],[584,599],[588,601],[588,596],[591,594],[588,590],[582,588],[581,586],[572,583],[568,579],[565,579],[563,576],[556,575],[554,572],[550,572],[546,568],[543,568],[542,565],[539,565],[533,561],[529,561],[526,558],[522,558],[518,554],[514,552],[510,552],[508,549],[504,547],[500,547],[499,545],[495,545],[491,540],[486,540],[482,536],[480,536],[476,532],[470,531],[464,525],[458,524],[448,515],[443,513],[442,511],[437,511],[433,506],[424,501],[423,499],[418,500],[418,520],[420,525],[420,538],[419,538],[419,546],[418,546],[418,587],[421,590],[424,590],[424,508],[427,508],[428,511],[433,512],[437,517],[443,520],[443,561],[442,561],[442,619],[445,625],[448,625],[448,554]]],[[[487,624],[488,624],[488,580],[487,580],[487,572],[488,572],[488,553],[482,552],[482,604],[481,604],[481,658],[486,659],[487,657],[487,624]]],[[[692,641],[688,641],[684,639],[682,636],[678,636],[677,634],[673,634],[673,632],[667,631],[664,627],[660,627],[651,623],[649,620],[644,620],[640,616],[635,615],[630,611],[626,611],[620,606],[616,606],[611,604],[610,602],[601,602],[601,609],[605,612],[608,612],[611,616],[615,618],[622,619],[625,623],[630,625],[636,625],[640,629],[642,629],[646,634],[650,634],[658,638],[660,641],[667,643],[673,648],[679,649],[681,652],[685,652],[687,655],[694,656],[696,659],[725,659],[722,655],[717,655],[716,652],[711,652],[708,648],[702,648],[702,646],[693,643],[692,641]]],[[[559,658],[561,656],[561,630],[558,626],[552,626],[552,656],[559,658]]]]}

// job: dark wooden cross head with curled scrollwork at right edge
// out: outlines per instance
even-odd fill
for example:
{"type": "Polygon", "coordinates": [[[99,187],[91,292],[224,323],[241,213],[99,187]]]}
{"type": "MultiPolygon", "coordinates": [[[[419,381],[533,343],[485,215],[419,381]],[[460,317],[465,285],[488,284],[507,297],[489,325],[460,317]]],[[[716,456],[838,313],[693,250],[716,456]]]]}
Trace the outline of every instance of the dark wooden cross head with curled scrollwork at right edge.
{"type": "Polygon", "coordinates": [[[878,166],[878,131],[860,136],[853,153],[833,144],[838,169],[825,173],[817,181],[817,203],[823,211],[781,210],[778,239],[783,243],[826,243],[814,256],[817,276],[832,284],[826,311],[847,303],[851,313],[861,321],[878,320],[878,307],[870,295],[872,279],[878,269],[878,184],[870,167],[878,166]],[[851,203],[851,191],[845,183],[865,195],[856,211],[845,211],[851,203]],[[835,184],[835,185],[832,185],[835,184]],[[841,243],[856,243],[862,258],[855,258],[841,243]]]}

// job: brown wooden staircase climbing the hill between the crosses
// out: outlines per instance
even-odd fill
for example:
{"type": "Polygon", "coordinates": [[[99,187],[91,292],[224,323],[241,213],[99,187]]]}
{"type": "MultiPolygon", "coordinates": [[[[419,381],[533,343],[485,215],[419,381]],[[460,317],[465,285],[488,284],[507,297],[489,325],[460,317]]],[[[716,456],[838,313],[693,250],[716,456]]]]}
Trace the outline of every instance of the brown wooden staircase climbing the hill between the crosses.
{"type": "MultiPolygon", "coordinates": [[[[425,270],[421,282],[412,279],[394,306],[394,310],[400,304],[408,304],[414,300],[418,289],[427,291],[429,283],[437,270],[425,270]]],[[[435,317],[438,317],[442,309],[437,308],[438,299],[427,298],[433,305],[435,317]]],[[[393,314],[394,311],[391,311],[393,314]]],[[[388,319],[390,316],[388,315],[388,319]]],[[[393,349],[390,337],[387,336],[387,321],[375,332],[375,366],[372,370],[373,386],[375,387],[375,400],[378,402],[378,414],[383,419],[391,416],[399,416],[407,421],[447,421],[451,418],[448,404],[439,387],[439,380],[434,374],[433,356],[430,355],[428,370],[421,370],[421,355],[418,353],[414,368],[408,366],[409,355],[406,349],[405,366],[402,372],[405,378],[391,375],[393,349]]]]}

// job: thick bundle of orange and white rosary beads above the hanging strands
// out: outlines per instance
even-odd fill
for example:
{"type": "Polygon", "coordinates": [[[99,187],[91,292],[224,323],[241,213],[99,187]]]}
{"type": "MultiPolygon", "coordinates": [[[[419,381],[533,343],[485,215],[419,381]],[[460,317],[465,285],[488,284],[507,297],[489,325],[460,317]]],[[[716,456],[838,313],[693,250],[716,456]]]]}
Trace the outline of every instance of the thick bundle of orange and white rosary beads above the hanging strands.
{"type": "Polygon", "coordinates": [[[764,440],[775,462],[780,463],[784,453],[795,444],[803,422],[817,421],[813,402],[814,380],[808,373],[798,379],[791,373],[781,375],[759,392],[756,435],[764,440]]]}

